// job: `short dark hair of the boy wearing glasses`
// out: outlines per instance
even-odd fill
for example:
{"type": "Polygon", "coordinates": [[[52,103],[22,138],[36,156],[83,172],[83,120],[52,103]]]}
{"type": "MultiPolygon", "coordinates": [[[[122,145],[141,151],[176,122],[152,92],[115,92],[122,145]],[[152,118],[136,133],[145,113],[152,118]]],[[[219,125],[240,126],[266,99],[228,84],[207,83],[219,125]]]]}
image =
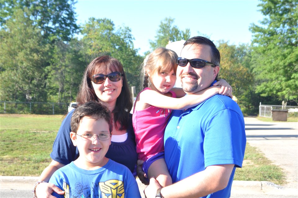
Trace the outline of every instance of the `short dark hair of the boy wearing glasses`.
{"type": "Polygon", "coordinates": [[[100,102],[89,101],[77,107],[70,119],[71,131],[77,133],[79,124],[83,117],[88,116],[92,119],[104,119],[109,124],[110,133],[113,130],[113,120],[110,110],[100,102]]]}

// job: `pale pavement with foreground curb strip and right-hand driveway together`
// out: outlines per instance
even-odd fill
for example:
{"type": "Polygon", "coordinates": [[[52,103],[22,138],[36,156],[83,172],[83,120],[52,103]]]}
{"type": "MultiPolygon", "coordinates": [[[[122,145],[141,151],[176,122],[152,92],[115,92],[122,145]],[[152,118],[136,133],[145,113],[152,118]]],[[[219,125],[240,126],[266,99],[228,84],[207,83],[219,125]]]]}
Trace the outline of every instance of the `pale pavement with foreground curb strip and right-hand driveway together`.
{"type": "MultiPolygon", "coordinates": [[[[286,173],[287,184],[278,186],[266,181],[234,181],[231,197],[298,197],[297,157],[298,123],[261,122],[245,118],[246,138],[286,173]]],[[[0,197],[32,197],[38,177],[1,177],[0,197]]],[[[145,187],[139,183],[140,191],[145,187]]],[[[142,195],[142,193],[141,193],[142,195]]]]}

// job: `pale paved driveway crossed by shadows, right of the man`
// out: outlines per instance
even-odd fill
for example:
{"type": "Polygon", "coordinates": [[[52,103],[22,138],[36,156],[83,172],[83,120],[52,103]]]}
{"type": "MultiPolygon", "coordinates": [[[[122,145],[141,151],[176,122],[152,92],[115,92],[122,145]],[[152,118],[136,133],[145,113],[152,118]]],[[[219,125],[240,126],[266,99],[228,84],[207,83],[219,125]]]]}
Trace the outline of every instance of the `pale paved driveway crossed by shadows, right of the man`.
{"type": "Polygon", "coordinates": [[[247,142],[283,169],[288,182],[284,187],[297,189],[298,123],[261,122],[249,117],[245,123],[247,142]]]}

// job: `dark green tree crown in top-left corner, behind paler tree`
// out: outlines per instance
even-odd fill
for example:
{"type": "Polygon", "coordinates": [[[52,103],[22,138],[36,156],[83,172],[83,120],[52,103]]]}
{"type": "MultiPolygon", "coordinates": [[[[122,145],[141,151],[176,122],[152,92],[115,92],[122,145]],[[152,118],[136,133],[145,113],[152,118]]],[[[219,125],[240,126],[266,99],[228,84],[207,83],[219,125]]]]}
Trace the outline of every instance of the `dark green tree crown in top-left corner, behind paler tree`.
{"type": "Polygon", "coordinates": [[[44,38],[69,41],[78,29],[74,5],[74,0],[2,0],[0,25],[5,28],[14,11],[21,9],[42,30],[44,38]]]}

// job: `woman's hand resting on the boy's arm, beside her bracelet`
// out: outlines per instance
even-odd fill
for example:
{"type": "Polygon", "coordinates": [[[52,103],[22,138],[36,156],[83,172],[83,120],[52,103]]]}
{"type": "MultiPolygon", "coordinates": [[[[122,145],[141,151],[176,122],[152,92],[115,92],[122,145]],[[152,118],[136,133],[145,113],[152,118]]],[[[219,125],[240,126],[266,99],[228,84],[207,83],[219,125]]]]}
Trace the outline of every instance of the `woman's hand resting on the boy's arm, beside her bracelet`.
{"type": "Polygon", "coordinates": [[[52,193],[54,191],[59,195],[64,194],[64,191],[61,191],[60,188],[56,187],[54,184],[51,184],[51,183],[39,183],[35,188],[35,194],[38,198],[42,198],[42,197],[54,198],[55,196],[52,196],[52,193]]]}

